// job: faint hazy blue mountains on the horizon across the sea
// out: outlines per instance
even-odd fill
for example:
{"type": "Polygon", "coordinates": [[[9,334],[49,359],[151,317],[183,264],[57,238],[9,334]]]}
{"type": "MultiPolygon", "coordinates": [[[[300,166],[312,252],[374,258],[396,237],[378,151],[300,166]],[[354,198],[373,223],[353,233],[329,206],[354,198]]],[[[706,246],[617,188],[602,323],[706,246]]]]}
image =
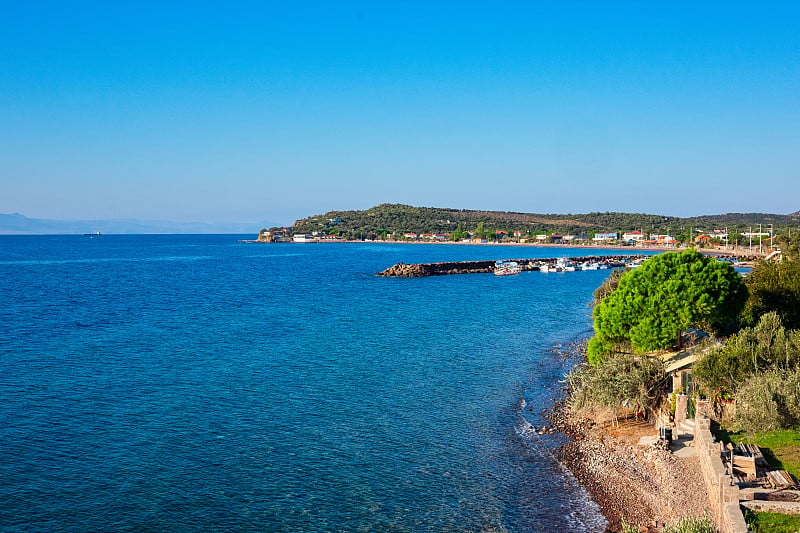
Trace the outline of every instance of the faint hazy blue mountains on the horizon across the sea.
{"type": "Polygon", "coordinates": [[[69,235],[83,233],[237,233],[257,235],[262,223],[168,222],[161,220],[53,220],[0,213],[0,235],[69,235]]]}

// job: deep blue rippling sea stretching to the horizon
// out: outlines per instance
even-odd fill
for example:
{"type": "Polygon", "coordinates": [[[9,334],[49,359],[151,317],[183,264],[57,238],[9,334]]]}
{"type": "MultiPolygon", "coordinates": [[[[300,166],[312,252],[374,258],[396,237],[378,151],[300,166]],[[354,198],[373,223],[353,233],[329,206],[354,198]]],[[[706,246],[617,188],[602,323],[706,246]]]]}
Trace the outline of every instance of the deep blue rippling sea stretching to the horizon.
{"type": "Polygon", "coordinates": [[[554,253],[0,237],[0,530],[602,531],[529,424],[609,271],[374,276],[554,253]]]}

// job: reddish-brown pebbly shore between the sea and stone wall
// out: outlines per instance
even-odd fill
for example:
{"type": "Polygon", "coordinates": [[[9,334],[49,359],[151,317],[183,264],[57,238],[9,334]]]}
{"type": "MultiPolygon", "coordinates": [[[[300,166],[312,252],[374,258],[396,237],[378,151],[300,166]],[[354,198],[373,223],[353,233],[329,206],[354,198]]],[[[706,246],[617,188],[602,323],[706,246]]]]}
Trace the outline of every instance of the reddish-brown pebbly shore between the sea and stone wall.
{"type": "Polygon", "coordinates": [[[620,531],[624,521],[654,533],[681,517],[709,514],[697,457],[637,444],[639,437],[656,434],[651,425],[622,421],[615,427],[577,418],[563,406],[551,418],[571,437],[557,456],[600,506],[609,522],[607,531],[620,531]]]}

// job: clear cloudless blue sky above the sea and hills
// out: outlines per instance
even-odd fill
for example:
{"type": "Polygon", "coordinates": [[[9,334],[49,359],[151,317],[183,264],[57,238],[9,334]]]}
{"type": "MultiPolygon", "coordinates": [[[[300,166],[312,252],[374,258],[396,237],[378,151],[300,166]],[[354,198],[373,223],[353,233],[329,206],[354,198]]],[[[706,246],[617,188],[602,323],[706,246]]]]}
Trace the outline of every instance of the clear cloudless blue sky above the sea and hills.
{"type": "Polygon", "coordinates": [[[800,210],[797,2],[3,2],[0,213],[800,210]]]}

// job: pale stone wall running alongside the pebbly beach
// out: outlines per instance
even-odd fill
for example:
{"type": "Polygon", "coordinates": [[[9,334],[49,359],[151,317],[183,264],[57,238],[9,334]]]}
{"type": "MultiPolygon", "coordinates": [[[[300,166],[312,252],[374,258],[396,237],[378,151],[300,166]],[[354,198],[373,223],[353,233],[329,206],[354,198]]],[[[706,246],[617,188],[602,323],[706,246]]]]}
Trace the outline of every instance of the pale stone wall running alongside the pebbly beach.
{"type": "Polygon", "coordinates": [[[695,423],[694,446],[711,501],[714,522],[720,533],[747,533],[747,524],[739,507],[739,487],[725,473],[719,443],[711,435],[711,421],[698,418],[695,423]]]}

